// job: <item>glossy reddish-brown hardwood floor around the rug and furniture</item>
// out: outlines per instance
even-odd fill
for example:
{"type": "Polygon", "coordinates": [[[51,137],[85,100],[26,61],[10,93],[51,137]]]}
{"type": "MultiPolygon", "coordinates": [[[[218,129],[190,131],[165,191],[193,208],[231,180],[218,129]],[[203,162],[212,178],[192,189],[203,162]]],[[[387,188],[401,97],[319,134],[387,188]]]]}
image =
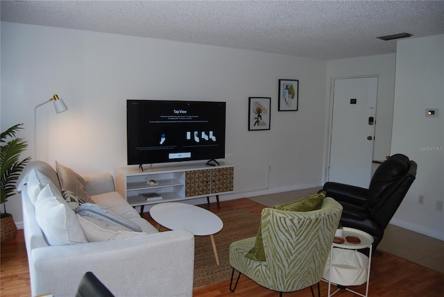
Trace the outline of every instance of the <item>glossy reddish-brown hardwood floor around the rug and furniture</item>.
{"type": "MultiPolygon", "coordinates": [[[[255,203],[246,198],[232,201],[221,201],[221,210],[217,209],[216,203],[201,205],[212,212],[221,212],[229,209],[243,208],[250,212],[260,214],[264,205],[255,203]]],[[[144,218],[152,221],[148,212],[144,213],[144,218]]],[[[432,269],[395,257],[388,253],[375,255],[372,260],[372,269],[377,274],[370,275],[369,296],[442,296],[444,291],[444,273],[439,273],[432,269]]],[[[23,230],[19,230],[16,239],[1,244],[1,275],[0,275],[0,296],[17,297],[31,296],[28,261],[26,248],[24,245],[23,230]]],[[[230,280],[210,285],[202,289],[196,289],[193,296],[214,297],[214,296],[255,296],[255,297],[277,297],[278,292],[270,291],[260,287],[252,280],[241,275],[239,285],[234,293],[230,292],[230,280]]],[[[332,287],[332,290],[334,287],[332,287]]],[[[365,285],[354,287],[353,289],[364,292],[365,285]]],[[[316,290],[315,290],[316,292],[316,290]]],[[[317,294],[316,294],[317,295],[317,294]]],[[[321,282],[321,296],[327,295],[327,283],[321,282]]],[[[147,292],[146,296],[149,296],[147,292]]],[[[303,289],[297,292],[284,293],[284,297],[311,296],[310,289],[303,289]]],[[[348,291],[341,290],[334,296],[356,296],[348,291]]],[[[130,297],[130,296],[128,296],[130,297]]]]}

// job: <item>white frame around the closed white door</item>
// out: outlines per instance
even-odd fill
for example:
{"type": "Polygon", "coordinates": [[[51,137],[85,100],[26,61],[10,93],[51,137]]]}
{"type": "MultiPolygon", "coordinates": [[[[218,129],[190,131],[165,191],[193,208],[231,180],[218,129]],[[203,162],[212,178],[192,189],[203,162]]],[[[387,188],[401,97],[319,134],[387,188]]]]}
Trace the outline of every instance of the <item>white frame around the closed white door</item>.
{"type": "MultiPolygon", "coordinates": [[[[375,135],[373,139],[376,139],[376,124],[377,124],[377,101],[379,98],[379,75],[378,74],[368,74],[368,75],[358,75],[358,76],[332,76],[330,78],[330,100],[328,101],[328,120],[327,120],[327,129],[325,135],[327,146],[325,149],[325,164],[324,164],[324,178],[323,178],[323,184],[326,183],[330,176],[330,150],[332,146],[332,124],[333,124],[333,99],[334,99],[334,80],[335,79],[346,79],[346,78],[370,78],[370,77],[376,77],[378,79],[378,85],[377,85],[377,97],[376,97],[376,105],[375,105],[375,135]]],[[[373,159],[375,158],[375,140],[373,140],[373,159]]]]}

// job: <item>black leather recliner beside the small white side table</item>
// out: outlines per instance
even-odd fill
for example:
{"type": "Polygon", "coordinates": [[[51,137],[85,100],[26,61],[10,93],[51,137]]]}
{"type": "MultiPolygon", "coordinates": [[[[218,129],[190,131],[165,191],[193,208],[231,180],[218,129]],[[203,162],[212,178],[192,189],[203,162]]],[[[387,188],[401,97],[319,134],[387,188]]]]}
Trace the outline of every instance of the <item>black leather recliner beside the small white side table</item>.
{"type": "Polygon", "coordinates": [[[334,198],[343,206],[342,226],[373,236],[375,252],[388,222],[416,178],[416,167],[416,162],[407,156],[392,155],[379,165],[368,189],[327,182],[321,191],[327,192],[327,197],[334,198]]]}

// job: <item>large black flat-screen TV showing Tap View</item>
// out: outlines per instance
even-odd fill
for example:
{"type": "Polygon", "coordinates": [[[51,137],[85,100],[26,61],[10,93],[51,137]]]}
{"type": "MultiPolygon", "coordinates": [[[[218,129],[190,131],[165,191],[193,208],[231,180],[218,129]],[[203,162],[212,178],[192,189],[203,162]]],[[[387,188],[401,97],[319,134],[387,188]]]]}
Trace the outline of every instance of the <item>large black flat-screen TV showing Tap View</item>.
{"type": "Polygon", "coordinates": [[[225,158],[225,102],[127,100],[128,165],[225,158]]]}

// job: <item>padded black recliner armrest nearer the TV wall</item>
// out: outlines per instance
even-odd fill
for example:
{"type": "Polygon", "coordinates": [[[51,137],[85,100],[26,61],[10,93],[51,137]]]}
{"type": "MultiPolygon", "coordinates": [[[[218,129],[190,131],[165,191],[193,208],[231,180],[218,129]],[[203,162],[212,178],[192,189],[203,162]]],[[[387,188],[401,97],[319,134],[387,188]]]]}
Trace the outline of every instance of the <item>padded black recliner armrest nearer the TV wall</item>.
{"type": "Polygon", "coordinates": [[[332,197],[340,203],[345,202],[360,206],[367,202],[368,189],[363,187],[327,182],[321,191],[327,192],[327,197],[332,197]]]}

